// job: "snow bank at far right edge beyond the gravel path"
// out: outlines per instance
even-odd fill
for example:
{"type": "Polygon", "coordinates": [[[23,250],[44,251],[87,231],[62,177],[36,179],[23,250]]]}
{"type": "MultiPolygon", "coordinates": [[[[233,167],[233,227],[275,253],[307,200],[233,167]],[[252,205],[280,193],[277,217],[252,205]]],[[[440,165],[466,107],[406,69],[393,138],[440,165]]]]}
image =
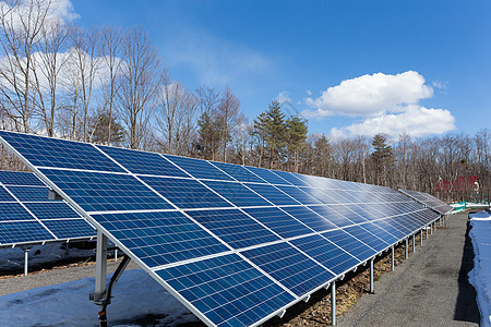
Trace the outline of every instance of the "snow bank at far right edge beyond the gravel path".
{"type": "Polygon", "coordinates": [[[469,215],[469,237],[474,247],[474,268],[469,281],[476,289],[477,303],[481,314],[481,326],[491,326],[491,213],[469,215]]]}

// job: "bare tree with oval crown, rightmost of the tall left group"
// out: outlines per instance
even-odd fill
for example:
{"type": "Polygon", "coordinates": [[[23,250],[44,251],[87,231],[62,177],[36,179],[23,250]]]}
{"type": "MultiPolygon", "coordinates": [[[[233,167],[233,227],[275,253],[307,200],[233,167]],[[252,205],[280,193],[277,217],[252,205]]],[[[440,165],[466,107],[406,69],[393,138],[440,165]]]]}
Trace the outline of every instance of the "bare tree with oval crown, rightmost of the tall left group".
{"type": "Polygon", "coordinates": [[[130,148],[141,148],[148,134],[148,122],[157,105],[163,68],[148,34],[137,27],[124,33],[124,65],[118,78],[118,112],[128,129],[130,148]]]}

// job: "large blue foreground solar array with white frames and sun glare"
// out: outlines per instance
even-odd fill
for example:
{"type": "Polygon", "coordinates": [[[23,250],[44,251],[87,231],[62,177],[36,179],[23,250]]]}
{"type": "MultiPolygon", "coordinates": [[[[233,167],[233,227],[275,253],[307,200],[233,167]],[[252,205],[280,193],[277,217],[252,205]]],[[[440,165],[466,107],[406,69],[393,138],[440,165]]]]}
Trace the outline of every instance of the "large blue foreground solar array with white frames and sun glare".
{"type": "Polygon", "coordinates": [[[387,187],[0,136],[211,326],[262,324],[439,218],[387,187]]]}

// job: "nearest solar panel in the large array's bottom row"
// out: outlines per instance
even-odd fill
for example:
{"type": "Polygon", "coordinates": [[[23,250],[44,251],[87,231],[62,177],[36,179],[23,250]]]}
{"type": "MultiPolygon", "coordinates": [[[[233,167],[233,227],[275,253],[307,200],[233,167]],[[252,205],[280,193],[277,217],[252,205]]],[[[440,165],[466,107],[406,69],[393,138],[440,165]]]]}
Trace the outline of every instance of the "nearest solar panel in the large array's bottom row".
{"type": "Polygon", "coordinates": [[[250,326],[295,298],[237,254],[157,270],[216,326],[250,326]]]}

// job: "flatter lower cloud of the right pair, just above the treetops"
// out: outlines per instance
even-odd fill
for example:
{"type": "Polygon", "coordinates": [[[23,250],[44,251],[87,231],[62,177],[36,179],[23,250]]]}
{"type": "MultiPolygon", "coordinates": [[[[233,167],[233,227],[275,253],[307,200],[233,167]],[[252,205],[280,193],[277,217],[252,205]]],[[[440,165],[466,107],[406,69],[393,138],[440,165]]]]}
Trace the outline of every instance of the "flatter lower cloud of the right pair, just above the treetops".
{"type": "Polygon", "coordinates": [[[340,138],[386,133],[392,137],[397,137],[400,133],[406,132],[410,136],[418,137],[443,134],[454,129],[455,118],[448,110],[427,109],[411,105],[406,107],[403,113],[382,114],[346,128],[332,129],[331,136],[340,138]]]}

